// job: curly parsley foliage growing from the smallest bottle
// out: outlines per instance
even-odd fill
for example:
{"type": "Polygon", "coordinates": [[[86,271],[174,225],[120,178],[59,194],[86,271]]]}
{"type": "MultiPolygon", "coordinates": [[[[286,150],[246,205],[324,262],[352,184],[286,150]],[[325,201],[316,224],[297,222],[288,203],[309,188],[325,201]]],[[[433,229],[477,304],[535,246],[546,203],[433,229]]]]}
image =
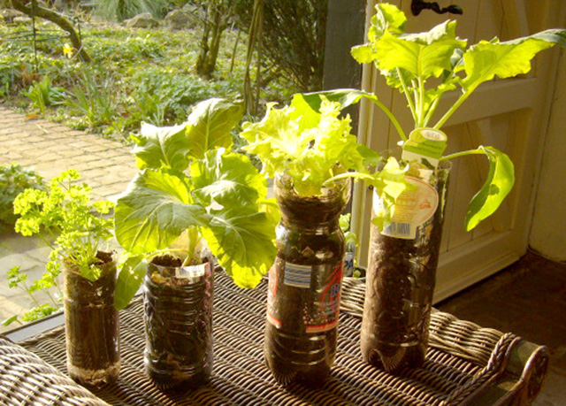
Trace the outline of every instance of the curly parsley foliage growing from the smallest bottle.
{"type": "Polygon", "coordinates": [[[112,237],[112,220],[103,218],[111,202],[90,203],[91,188],[74,184],[79,172],[69,170],[51,180],[47,191],[26,189],[14,201],[16,231],[39,234],[51,247],[48,269],[59,269],[59,260],[76,266],[88,280],[100,276],[96,252],[112,237]]]}

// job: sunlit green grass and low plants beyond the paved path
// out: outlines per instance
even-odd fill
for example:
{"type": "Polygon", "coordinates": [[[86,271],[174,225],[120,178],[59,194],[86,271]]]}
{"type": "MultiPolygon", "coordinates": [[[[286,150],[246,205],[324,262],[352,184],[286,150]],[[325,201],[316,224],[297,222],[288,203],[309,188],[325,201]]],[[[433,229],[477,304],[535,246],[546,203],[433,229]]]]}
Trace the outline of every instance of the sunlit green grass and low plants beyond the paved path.
{"type": "MultiPolygon", "coordinates": [[[[40,31],[56,29],[50,23],[39,26],[40,31]]],[[[67,57],[65,38],[38,42],[35,60],[31,38],[15,38],[29,30],[22,25],[0,26],[0,97],[28,114],[126,140],[142,121],[172,125],[186,119],[191,106],[206,98],[241,98],[246,35],[241,35],[234,53],[237,32],[233,30],[223,37],[211,80],[194,73],[200,34],[196,30],[82,24],[91,64],[67,57]],[[45,77],[51,88],[46,87],[45,77]],[[53,92],[62,94],[64,101],[49,103],[42,96],[53,92]]],[[[292,85],[279,75],[262,90],[262,98],[283,102],[293,93],[292,85]]]]}

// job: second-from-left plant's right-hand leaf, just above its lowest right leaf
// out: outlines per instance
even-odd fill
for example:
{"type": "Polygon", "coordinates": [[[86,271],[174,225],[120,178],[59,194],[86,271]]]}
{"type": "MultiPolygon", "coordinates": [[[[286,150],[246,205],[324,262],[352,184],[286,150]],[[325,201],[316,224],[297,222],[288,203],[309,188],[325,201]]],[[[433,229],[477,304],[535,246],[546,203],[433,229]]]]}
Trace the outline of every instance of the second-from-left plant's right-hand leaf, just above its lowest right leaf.
{"type": "Polygon", "coordinates": [[[190,166],[195,195],[210,204],[213,199],[226,207],[257,205],[267,185],[249,158],[241,154],[223,154],[222,149],[209,151],[190,166]]]}

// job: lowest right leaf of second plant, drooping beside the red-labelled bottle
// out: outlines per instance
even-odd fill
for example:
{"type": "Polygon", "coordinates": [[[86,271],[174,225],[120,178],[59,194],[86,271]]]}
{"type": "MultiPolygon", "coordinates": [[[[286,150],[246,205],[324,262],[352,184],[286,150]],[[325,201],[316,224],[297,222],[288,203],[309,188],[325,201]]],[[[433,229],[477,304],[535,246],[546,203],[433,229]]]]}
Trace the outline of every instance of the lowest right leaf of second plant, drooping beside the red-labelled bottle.
{"type": "Polygon", "coordinates": [[[203,236],[210,251],[239,287],[256,287],[273,263],[275,225],[264,212],[213,211],[203,236]]]}

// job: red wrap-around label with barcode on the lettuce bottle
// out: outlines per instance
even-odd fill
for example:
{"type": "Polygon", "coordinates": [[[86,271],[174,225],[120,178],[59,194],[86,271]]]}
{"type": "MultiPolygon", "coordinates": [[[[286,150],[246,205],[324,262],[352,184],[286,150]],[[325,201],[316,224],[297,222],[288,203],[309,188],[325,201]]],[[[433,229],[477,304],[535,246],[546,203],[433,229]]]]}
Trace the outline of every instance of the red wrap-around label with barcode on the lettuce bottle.
{"type": "Polygon", "coordinates": [[[343,262],[331,272],[324,272],[327,266],[332,265],[291,264],[278,258],[269,272],[267,321],[277,328],[306,333],[325,332],[337,326],[343,262]],[[278,268],[283,275],[279,275],[278,268]],[[287,277],[289,271],[291,277],[287,277]],[[298,279],[297,273],[301,276],[298,279]]]}

